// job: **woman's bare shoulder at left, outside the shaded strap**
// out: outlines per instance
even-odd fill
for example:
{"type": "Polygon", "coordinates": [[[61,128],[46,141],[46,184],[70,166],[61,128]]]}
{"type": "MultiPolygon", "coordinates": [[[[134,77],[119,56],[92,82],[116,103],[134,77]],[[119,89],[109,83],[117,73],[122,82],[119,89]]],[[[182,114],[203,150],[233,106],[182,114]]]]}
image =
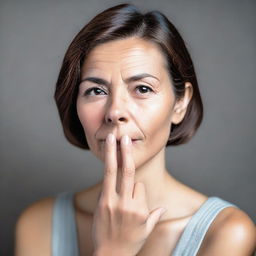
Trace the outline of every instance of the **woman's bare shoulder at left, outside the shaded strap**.
{"type": "Polygon", "coordinates": [[[15,230],[15,256],[50,255],[54,200],[41,199],[20,214],[15,230]]]}

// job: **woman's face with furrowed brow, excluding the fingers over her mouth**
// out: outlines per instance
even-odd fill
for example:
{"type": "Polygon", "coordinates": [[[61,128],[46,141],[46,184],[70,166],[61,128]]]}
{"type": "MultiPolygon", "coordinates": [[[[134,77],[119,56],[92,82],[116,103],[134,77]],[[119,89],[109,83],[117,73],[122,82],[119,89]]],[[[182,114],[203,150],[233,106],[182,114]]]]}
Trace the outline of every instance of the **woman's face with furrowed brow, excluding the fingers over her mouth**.
{"type": "MultiPolygon", "coordinates": [[[[91,151],[104,161],[108,133],[133,140],[135,167],[169,137],[175,97],[165,58],[154,43],[131,37],[95,47],[86,58],[77,113],[91,151]]],[[[118,163],[120,163],[118,151],[118,163]]]]}

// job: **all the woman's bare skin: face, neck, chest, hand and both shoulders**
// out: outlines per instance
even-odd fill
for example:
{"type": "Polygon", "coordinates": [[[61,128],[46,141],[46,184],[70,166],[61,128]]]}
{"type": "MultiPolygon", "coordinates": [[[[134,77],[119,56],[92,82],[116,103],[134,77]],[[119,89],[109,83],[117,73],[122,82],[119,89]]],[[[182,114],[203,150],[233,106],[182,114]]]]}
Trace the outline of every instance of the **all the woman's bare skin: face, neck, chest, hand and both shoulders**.
{"type": "MultiPolygon", "coordinates": [[[[103,180],[74,197],[81,256],[170,256],[188,221],[208,198],[177,181],[165,166],[171,125],[182,121],[193,93],[186,83],[184,98],[175,100],[165,64],[156,45],[138,38],[99,45],[84,63],[82,79],[99,77],[109,85],[84,81],[77,96],[89,147],[104,162],[103,180]],[[148,77],[126,82],[140,73],[159,81],[148,77]],[[138,88],[141,85],[153,92],[138,88]],[[100,90],[85,97],[91,87],[100,90]],[[140,140],[131,145],[122,140],[117,151],[116,142],[100,141],[109,133],[116,140],[124,135],[140,140]],[[162,215],[161,207],[167,209],[162,215]]],[[[15,256],[51,255],[54,202],[54,197],[42,199],[20,215],[15,256]]],[[[197,256],[251,256],[255,241],[249,216],[227,207],[209,227],[197,256]]]]}

